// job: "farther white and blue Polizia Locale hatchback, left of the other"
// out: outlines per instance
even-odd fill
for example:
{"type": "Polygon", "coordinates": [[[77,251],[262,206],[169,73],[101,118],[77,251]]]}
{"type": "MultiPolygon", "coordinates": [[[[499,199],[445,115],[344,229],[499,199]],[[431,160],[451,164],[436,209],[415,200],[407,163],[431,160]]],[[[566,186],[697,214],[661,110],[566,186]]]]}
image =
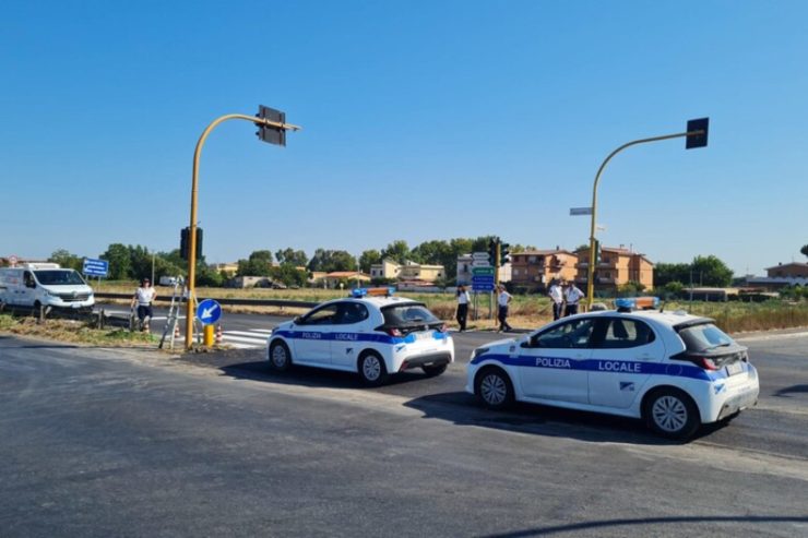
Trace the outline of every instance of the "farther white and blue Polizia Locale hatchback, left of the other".
{"type": "Polygon", "coordinates": [[[271,368],[293,363],[358,372],[368,385],[420,368],[443,373],[454,361],[454,343],[424,303],[390,297],[388,288],[354,290],[354,297],[320,304],[275,327],[266,349],[271,368]]]}

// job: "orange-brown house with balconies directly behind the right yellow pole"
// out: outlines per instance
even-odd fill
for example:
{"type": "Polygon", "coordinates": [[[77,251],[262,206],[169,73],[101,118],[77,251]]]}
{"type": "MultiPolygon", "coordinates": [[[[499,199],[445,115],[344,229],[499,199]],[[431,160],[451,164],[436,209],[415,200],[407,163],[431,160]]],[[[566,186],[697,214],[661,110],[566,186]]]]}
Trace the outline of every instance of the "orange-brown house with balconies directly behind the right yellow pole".
{"type": "MultiPolygon", "coordinates": [[[[590,268],[590,249],[581,249],[578,254],[575,284],[586,285],[590,268]]],[[[632,252],[622,247],[602,247],[601,260],[595,267],[595,288],[617,290],[619,286],[635,282],[645,289],[654,286],[654,264],[645,254],[632,252]]]]}

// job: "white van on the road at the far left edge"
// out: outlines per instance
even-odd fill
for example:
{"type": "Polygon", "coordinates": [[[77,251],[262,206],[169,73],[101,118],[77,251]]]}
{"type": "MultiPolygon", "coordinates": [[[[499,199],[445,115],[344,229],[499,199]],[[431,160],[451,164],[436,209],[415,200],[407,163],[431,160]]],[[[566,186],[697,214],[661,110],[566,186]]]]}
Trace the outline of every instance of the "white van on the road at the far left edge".
{"type": "Polygon", "coordinates": [[[95,297],[76,271],[57,263],[28,263],[0,268],[0,303],[90,310],[95,297]]]}

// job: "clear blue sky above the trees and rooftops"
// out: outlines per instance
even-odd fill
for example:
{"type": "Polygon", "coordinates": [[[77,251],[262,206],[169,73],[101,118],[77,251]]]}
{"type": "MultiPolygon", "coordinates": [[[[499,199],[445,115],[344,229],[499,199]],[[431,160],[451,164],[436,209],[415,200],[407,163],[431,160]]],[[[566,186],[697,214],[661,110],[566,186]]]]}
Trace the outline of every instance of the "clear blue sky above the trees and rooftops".
{"type": "Polygon", "coordinates": [[[209,261],[496,234],[587,241],[601,162],[709,116],[710,146],[629,148],[605,246],[804,261],[808,3],[10,1],[0,8],[0,255],[177,248],[200,134],[287,112],[288,146],[209,139],[209,261]]]}

